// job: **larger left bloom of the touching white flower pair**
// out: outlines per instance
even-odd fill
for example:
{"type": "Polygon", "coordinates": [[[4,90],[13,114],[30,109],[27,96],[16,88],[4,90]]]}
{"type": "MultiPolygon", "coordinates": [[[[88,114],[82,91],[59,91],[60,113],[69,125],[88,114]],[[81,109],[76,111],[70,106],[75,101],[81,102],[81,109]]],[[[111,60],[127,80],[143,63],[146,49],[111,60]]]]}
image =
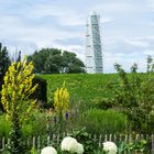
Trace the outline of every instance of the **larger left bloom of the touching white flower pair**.
{"type": "Polygon", "coordinates": [[[76,139],[70,138],[70,136],[64,138],[61,143],[61,150],[68,151],[70,153],[75,153],[77,150],[77,146],[78,146],[78,142],[76,141],[76,139]]]}

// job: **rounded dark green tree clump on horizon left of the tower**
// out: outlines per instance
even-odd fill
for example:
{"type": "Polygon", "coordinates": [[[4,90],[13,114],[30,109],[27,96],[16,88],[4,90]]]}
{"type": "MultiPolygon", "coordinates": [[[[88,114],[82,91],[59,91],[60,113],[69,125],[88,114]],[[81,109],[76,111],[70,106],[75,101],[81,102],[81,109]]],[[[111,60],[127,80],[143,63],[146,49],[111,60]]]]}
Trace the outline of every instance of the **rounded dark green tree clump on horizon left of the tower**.
{"type": "Polygon", "coordinates": [[[76,54],[57,48],[42,48],[28,59],[33,61],[35,73],[85,73],[85,65],[76,54]]]}

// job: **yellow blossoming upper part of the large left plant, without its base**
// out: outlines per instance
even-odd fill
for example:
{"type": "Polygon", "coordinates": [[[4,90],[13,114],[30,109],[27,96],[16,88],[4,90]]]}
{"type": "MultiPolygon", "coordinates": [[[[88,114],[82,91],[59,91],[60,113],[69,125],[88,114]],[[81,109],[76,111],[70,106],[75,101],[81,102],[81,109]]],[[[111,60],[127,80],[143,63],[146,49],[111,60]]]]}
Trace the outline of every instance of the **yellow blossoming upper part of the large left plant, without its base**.
{"type": "Polygon", "coordinates": [[[30,100],[37,85],[33,86],[32,74],[33,64],[26,63],[26,57],[22,62],[12,63],[4,76],[2,85],[2,105],[7,112],[7,119],[11,120],[13,113],[20,116],[20,123],[29,118],[36,100],[30,100]]]}

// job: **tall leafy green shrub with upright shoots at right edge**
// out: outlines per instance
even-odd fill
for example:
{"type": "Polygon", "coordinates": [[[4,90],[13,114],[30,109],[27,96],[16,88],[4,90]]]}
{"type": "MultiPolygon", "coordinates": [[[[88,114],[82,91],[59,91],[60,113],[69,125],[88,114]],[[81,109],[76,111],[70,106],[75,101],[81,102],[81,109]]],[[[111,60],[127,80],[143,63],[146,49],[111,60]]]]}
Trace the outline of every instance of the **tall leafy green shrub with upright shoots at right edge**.
{"type": "Polygon", "coordinates": [[[154,125],[154,63],[147,58],[147,72],[138,73],[134,64],[129,76],[124,69],[117,64],[119,81],[111,84],[114,94],[113,101],[117,107],[127,113],[132,121],[132,130],[140,133],[152,133],[154,125]]]}

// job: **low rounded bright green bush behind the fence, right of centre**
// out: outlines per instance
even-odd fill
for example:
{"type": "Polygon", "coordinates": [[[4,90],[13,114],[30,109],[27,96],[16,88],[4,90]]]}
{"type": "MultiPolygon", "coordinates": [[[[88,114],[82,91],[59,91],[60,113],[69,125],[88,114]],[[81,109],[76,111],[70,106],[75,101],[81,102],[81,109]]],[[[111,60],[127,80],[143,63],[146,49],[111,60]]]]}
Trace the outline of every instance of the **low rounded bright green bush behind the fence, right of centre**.
{"type": "Polygon", "coordinates": [[[91,134],[120,133],[127,130],[127,117],[116,110],[90,109],[80,116],[79,123],[91,134]]]}

